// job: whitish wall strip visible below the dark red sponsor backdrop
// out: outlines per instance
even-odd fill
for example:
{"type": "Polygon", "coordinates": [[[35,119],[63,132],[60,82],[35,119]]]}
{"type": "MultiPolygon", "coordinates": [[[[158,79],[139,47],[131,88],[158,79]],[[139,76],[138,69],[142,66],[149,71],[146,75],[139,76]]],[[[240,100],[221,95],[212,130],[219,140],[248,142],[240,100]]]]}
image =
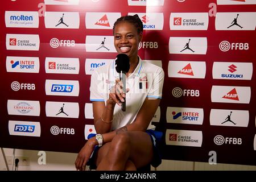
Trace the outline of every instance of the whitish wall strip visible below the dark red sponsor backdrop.
{"type": "MultiPolygon", "coordinates": [[[[3,148],[5,155],[13,155],[12,148],[3,148]]],[[[27,156],[29,160],[29,166],[19,166],[18,170],[28,170],[28,171],[73,171],[75,168],[75,160],[77,154],[65,153],[65,152],[49,152],[46,151],[46,165],[38,164],[39,151],[34,150],[15,150],[16,156],[27,156]]],[[[12,166],[9,166],[10,170],[12,166]]],[[[15,169],[15,168],[14,168],[15,169]]],[[[0,170],[6,171],[5,161],[3,159],[3,154],[0,154],[0,170]]],[[[155,169],[151,167],[151,170],[155,169]]],[[[162,164],[157,168],[158,171],[192,171],[192,170],[253,170],[256,171],[256,166],[245,166],[245,165],[235,165],[235,164],[212,164],[201,163],[201,162],[186,162],[178,160],[163,160],[162,164]]]]}

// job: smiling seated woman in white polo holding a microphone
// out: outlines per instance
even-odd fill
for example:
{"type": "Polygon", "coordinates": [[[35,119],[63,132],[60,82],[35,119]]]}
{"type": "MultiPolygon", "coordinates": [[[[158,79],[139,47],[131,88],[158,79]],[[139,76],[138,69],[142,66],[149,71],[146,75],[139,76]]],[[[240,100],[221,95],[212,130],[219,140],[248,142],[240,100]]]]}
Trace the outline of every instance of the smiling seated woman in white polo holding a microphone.
{"type": "Polygon", "coordinates": [[[123,92],[115,60],[93,72],[90,101],[97,135],[77,155],[78,170],[85,170],[86,164],[97,170],[137,170],[148,164],[157,167],[162,161],[151,119],[162,98],[164,72],[138,56],[142,32],[138,15],[122,16],[114,23],[115,49],[130,61],[128,93],[123,92]],[[122,111],[121,102],[125,100],[126,111],[122,111]]]}

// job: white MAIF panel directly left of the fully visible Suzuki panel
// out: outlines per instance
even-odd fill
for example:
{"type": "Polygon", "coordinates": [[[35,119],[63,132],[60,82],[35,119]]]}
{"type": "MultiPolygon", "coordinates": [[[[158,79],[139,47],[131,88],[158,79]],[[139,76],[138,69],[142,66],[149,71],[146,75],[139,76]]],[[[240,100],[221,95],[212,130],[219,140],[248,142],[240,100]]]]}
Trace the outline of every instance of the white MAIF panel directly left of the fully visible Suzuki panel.
{"type": "Polygon", "coordinates": [[[206,64],[203,61],[169,61],[168,77],[205,78],[206,64]]]}

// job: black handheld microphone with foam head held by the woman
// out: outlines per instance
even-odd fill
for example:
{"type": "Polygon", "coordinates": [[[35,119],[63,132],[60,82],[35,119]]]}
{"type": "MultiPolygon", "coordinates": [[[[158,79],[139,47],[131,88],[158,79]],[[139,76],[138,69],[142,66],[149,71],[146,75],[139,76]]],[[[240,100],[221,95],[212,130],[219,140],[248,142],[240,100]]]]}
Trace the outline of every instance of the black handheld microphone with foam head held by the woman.
{"type": "MultiPolygon", "coordinates": [[[[117,55],[117,59],[115,59],[115,70],[119,73],[119,79],[123,82],[123,93],[126,93],[126,73],[129,72],[130,69],[130,60],[129,57],[125,53],[120,53],[117,55]]],[[[123,98],[125,100],[125,98],[123,98]]],[[[126,110],[125,102],[121,102],[122,111],[126,110]]]]}

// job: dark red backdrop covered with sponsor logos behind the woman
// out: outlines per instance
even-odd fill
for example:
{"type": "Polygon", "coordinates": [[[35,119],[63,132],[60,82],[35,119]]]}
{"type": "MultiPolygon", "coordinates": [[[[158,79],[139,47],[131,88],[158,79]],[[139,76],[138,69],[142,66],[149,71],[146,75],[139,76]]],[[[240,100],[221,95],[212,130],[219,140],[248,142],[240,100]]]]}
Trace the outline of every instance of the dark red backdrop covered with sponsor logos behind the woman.
{"type": "Polygon", "coordinates": [[[138,14],[139,55],[163,67],[152,119],[164,159],[256,165],[255,0],[16,0],[1,11],[0,145],[79,152],[90,75],[117,55],[113,23],[138,14]]]}

